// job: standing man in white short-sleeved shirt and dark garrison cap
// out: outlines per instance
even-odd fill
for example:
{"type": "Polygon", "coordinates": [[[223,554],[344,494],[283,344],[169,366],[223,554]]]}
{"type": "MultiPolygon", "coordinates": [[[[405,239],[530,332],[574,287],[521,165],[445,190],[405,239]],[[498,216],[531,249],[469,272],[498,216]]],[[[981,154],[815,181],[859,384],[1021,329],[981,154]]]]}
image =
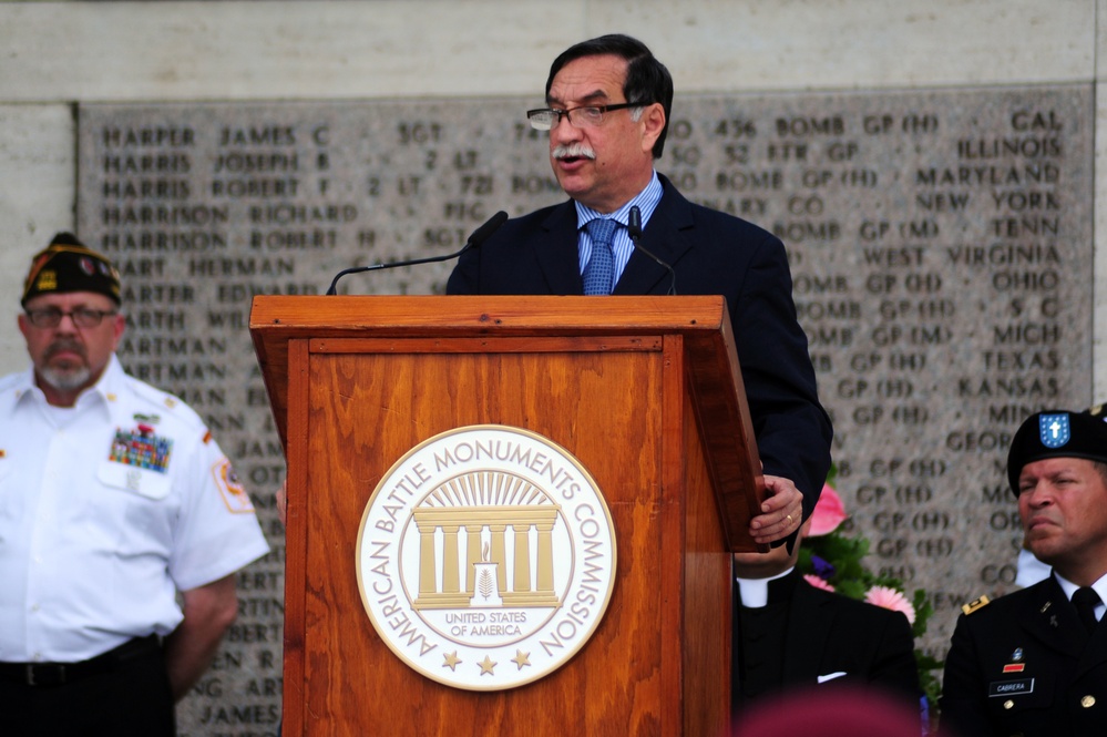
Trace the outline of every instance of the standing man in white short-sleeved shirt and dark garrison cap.
{"type": "Polygon", "coordinates": [[[111,262],[60,233],[21,303],[31,367],[0,379],[0,731],[174,737],[234,574],[268,545],[199,417],[123,371],[111,262]]]}

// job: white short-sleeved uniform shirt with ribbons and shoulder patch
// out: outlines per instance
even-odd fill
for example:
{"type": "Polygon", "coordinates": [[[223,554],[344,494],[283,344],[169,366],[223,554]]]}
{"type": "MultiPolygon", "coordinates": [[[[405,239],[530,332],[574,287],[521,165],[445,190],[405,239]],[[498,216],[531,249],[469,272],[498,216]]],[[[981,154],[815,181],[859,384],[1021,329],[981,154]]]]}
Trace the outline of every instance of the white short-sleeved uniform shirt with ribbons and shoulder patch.
{"type": "Polygon", "coordinates": [[[114,356],[72,409],[50,407],[30,370],[0,380],[0,662],[166,635],[176,591],[268,550],[199,417],[114,356]]]}

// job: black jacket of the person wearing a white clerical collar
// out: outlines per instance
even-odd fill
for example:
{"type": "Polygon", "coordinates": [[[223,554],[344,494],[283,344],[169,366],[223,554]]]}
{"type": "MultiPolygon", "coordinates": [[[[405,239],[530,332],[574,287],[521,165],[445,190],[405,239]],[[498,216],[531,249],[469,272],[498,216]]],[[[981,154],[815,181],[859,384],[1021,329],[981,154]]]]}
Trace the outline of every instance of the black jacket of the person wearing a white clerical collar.
{"type": "MultiPolygon", "coordinates": [[[[740,610],[739,616],[748,611],[740,610]]],[[[880,688],[918,706],[922,692],[914,636],[903,614],[816,588],[802,579],[793,583],[787,612],[781,687],[817,686],[820,676],[844,674],[823,683],[880,688]]],[[[735,627],[735,653],[741,643],[739,629],[740,625],[735,627]]],[[[731,682],[732,705],[740,708],[744,698],[738,667],[731,682]]],[[[775,689],[770,686],[768,690],[775,689]]]]}

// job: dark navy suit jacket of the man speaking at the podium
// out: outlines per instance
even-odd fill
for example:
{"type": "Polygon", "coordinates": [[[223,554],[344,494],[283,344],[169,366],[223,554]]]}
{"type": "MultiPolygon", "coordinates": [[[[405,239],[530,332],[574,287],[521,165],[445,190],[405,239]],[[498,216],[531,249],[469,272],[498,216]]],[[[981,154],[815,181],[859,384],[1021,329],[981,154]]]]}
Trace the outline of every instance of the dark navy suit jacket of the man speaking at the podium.
{"type": "MultiPolygon", "coordinates": [[[[642,246],[676,272],[680,295],[722,295],[765,473],[791,479],[810,515],[830,468],[830,419],[819,403],[807,336],[796,319],[783,244],[756,225],[694,205],[660,177],[642,246]]],[[[581,295],[572,201],[513,218],[465,253],[449,294],[581,295]]],[[[635,252],[616,295],[664,295],[668,272],[635,252]]]]}

